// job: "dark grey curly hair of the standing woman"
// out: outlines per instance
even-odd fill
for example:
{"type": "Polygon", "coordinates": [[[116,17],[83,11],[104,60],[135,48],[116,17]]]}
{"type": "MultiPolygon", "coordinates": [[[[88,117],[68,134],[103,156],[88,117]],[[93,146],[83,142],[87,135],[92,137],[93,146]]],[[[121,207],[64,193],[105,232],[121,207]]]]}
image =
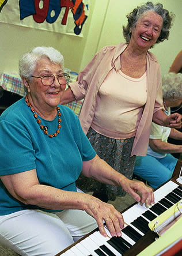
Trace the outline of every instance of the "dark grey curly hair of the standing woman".
{"type": "Polygon", "coordinates": [[[123,26],[123,36],[127,43],[129,43],[131,39],[131,29],[135,28],[139,18],[141,18],[145,12],[149,12],[150,10],[159,14],[163,21],[161,33],[156,43],[160,43],[165,39],[168,39],[169,29],[172,26],[172,20],[175,17],[175,14],[172,12],[169,13],[168,10],[163,8],[161,3],[156,3],[154,5],[152,2],[146,2],[141,6],[137,6],[130,14],[127,14],[126,16],[128,19],[128,24],[126,27],[123,26]]]}

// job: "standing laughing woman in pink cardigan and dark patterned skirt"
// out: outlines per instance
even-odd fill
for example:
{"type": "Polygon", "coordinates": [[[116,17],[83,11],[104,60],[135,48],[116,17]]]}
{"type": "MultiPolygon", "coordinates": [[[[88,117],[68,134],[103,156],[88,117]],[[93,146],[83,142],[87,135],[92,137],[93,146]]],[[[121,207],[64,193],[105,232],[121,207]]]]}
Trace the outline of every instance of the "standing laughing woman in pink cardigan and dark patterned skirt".
{"type": "MultiPolygon", "coordinates": [[[[79,120],[97,155],[132,179],[136,155],[145,156],[151,122],[180,127],[181,116],[166,116],[161,69],[149,51],[168,39],[173,14],[162,4],[146,2],[127,15],[126,43],[101,49],[70,83],[61,103],[84,99],[79,120]]],[[[121,187],[81,176],[77,186],[103,201],[123,196],[121,187]]]]}

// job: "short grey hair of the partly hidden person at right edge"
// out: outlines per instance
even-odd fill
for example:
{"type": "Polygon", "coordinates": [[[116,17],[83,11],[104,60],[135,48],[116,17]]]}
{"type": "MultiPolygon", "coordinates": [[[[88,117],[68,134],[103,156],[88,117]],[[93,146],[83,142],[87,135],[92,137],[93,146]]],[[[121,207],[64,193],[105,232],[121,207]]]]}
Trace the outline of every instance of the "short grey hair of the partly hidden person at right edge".
{"type": "Polygon", "coordinates": [[[162,77],[162,94],[164,99],[174,97],[182,99],[182,74],[168,73],[162,77]]]}

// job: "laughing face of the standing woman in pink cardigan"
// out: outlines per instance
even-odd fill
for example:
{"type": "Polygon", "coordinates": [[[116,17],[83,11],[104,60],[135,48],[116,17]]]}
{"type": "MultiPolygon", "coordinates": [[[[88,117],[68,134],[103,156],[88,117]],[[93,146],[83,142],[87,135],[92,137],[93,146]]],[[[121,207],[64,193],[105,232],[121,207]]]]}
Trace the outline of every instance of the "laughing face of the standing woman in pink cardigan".
{"type": "Polygon", "coordinates": [[[153,12],[145,12],[134,29],[132,29],[130,43],[142,51],[147,51],[160,36],[162,29],[162,17],[153,12]]]}

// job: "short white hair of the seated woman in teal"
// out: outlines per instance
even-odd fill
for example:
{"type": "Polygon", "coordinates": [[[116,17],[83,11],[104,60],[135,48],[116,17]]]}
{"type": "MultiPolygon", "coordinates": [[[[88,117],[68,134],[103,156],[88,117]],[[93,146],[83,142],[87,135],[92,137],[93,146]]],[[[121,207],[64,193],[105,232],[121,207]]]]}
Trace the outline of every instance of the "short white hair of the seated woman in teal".
{"type": "Polygon", "coordinates": [[[37,61],[48,58],[50,62],[59,64],[64,70],[64,58],[58,50],[53,47],[39,46],[32,51],[22,55],[19,61],[20,77],[31,80],[31,76],[36,69],[37,61]]]}

